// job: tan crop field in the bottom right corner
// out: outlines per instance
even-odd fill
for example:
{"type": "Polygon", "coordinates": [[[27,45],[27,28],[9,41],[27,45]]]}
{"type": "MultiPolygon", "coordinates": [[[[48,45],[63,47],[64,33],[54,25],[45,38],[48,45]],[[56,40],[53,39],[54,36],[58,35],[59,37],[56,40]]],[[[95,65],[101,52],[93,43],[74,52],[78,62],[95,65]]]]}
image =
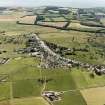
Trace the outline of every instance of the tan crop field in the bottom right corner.
{"type": "Polygon", "coordinates": [[[88,105],[104,105],[105,104],[105,87],[82,90],[88,105]]]}

